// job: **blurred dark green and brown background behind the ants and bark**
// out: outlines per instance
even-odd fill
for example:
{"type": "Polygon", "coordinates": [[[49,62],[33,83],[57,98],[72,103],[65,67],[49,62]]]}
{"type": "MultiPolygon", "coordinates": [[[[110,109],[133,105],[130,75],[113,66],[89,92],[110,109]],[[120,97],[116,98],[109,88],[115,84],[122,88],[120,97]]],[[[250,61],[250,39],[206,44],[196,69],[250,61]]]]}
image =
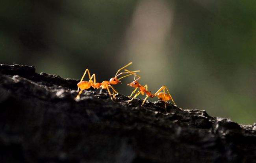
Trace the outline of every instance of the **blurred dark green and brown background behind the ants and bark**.
{"type": "Polygon", "coordinates": [[[241,124],[256,122],[255,43],[255,0],[0,1],[0,63],[103,81],[132,61],[152,92],[241,124]]]}

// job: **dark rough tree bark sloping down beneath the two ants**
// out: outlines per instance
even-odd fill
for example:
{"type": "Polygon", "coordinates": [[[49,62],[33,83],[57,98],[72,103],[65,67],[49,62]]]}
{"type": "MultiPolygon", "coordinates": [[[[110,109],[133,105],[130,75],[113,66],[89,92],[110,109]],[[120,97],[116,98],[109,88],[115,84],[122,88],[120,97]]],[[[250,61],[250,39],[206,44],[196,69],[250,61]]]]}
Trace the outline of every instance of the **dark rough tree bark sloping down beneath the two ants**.
{"type": "Polygon", "coordinates": [[[256,124],[107,93],[0,65],[1,163],[256,162],[256,124]]]}

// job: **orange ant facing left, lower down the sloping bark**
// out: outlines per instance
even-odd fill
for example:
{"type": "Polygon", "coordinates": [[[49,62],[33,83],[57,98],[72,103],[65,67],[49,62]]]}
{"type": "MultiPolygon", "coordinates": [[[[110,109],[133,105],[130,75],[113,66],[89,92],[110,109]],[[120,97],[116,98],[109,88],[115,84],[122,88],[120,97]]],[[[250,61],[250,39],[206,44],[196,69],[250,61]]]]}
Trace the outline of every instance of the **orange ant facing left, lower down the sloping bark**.
{"type": "Polygon", "coordinates": [[[134,81],[131,82],[130,84],[127,84],[128,86],[130,87],[134,87],[135,90],[131,93],[130,96],[128,96],[129,98],[136,92],[136,90],[139,88],[140,90],[134,95],[133,98],[131,98],[131,100],[129,100],[128,102],[131,102],[134,98],[136,98],[137,96],[140,95],[140,93],[142,95],[146,94],[146,97],[143,101],[143,103],[141,104],[141,106],[143,106],[143,104],[145,103],[145,101],[147,100],[148,97],[151,97],[151,98],[154,98],[155,96],[157,96],[158,99],[162,100],[162,101],[165,101],[165,107],[166,107],[166,101],[169,101],[169,100],[172,100],[173,104],[176,106],[175,102],[173,101],[172,99],[172,96],[171,94],[169,93],[169,90],[167,89],[166,86],[163,86],[163,87],[160,87],[159,90],[157,90],[156,93],[152,94],[151,91],[148,91],[148,85],[146,84],[145,86],[142,86],[139,84],[139,82],[137,82],[139,79],[140,79],[140,76],[136,75],[136,73],[132,72],[132,71],[129,71],[129,70],[125,70],[126,72],[129,72],[131,74],[134,74],[134,81]],[[136,76],[138,77],[136,79],[136,76]],[[136,79],[136,80],[135,80],[136,79]],[[163,92],[160,92],[162,91],[163,92]],[[167,90],[167,93],[166,93],[166,90],[167,90]]]}

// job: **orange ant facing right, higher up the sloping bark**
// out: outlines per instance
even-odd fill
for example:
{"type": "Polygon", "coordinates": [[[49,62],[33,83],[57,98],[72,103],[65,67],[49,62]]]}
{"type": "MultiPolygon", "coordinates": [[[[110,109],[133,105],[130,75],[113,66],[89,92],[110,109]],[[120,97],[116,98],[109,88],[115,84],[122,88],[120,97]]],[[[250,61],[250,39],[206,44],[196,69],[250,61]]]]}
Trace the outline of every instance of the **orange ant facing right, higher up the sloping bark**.
{"type": "Polygon", "coordinates": [[[118,92],[111,86],[112,85],[115,85],[115,84],[119,84],[119,83],[122,83],[120,82],[119,80],[122,79],[122,78],[125,78],[127,76],[130,76],[130,75],[133,75],[131,72],[140,72],[140,70],[137,70],[137,71],[129,71],[129,72],[122,72],[122,73],[119,73],[120,70],[124,69],[125,67],[131,65],[132,62],[128,63],[127,65],[125,65],[124,67],[120,68],[119,70],[117,70],[116,72],[116,76],[111,78],[109,81],[103,81],[102,83],[96,83],[96,75],[93,74],[92,76],[90,76],[90,71],[89,69],[86,69],[84,71],[84,75],[82,76],[80,82],[77,84],[78,86],[78,89],[77,91],[79,91],[79,89],[81,89],[78,93],[78,95],[76,96],[76,99],[79,99],[80,98],[80,94],[83,92],[83,90],[87,90],[89,89],[90,87],[93,87],[93,88],[96,88],[96,89],[107,89],[108,90],[108,93],[110,95],[110,98],[111,100],[116,99],[116,95],[118,95],[118,92]],[[89,81],[83,81],[84,79],[84,76],[86,75],[86,73],[88,72],[88,76],[89,76],[89,81]],[[119,73],[119,74],[118,74],[119,73]],[[130,73],[126,76],[122,76],[121,78],[117,79],[118,76],[122,75],[122,74],[125,74],[125,73],[130,73]],[[93,80],[92,80],[93,79],[93,80]],[[109,90],[109,88],[111,88],[113,90],[113,98],[112,98],[112,94],[109,90]]]}

